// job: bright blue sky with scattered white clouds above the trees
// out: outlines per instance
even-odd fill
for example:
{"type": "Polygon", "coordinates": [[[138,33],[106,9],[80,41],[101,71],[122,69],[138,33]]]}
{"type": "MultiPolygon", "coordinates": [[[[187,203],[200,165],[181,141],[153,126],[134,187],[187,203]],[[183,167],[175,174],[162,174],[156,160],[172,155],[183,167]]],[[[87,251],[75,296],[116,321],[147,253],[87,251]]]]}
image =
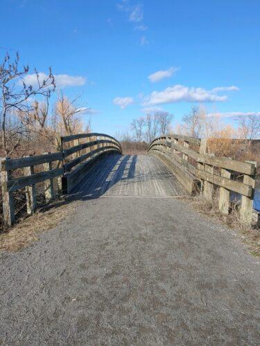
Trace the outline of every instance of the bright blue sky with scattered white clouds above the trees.
{"type": "Polygon", "coordinates": [[[51,66],[92,108],[94,131],[125,131],[147,109],[170,111],[174,125],[199,104],[225,122],[260,116],[259,0],[0,3],[1,55],[51,66]]]}

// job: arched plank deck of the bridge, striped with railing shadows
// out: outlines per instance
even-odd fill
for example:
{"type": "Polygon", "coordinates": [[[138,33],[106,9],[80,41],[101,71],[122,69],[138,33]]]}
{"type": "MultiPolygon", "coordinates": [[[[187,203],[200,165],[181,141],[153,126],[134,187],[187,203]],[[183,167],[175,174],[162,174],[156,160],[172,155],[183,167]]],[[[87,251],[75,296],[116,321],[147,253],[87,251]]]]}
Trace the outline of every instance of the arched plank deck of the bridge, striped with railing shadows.
{"type": "Polygon", "coordinates": [[[186,194],[156,157],[111,154],[94,163],[78,191],[86,197],[166,197],[186,194]]]}

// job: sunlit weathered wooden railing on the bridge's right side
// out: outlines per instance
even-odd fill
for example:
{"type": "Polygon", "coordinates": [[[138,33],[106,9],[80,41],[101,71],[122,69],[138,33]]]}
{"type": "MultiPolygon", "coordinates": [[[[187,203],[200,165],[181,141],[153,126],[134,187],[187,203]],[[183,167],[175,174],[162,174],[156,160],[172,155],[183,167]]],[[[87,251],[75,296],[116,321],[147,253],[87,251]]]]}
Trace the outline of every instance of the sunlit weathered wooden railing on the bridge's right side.
{"type": "Polygon", "coordinates": [[[207,140],[177,134],[155,138],[148,153],[158,156],[190,194],[200,190],[205,199],[212,200],[214,187],[218,187],[218,208],[225,215],[229,214],[230,192],[241,194],[241,221],[252,222],[255,162],[207,154],[207,140]],[[238,177],[243,181],[237,181],[238,177]]]}

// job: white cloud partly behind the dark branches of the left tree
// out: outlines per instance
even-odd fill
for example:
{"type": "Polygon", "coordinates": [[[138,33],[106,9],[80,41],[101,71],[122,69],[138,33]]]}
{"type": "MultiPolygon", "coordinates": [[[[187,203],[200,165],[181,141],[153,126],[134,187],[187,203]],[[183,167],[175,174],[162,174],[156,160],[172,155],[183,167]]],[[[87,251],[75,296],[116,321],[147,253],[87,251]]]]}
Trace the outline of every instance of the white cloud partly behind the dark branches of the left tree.
{"type": "MultiPolygon", "coordinates": [[[[48,75],[44,72],[39,72],[39,80],[42,82],[46,80],[48,75]]],[[[82,76],[73,76],[73,75],[54,75],[55,84],[58,88],[64,88],[66,86],[83,86],[86,82],[86,79],[82,76]]],[[[26,84],[37,85],[37,77],[36,74],[33,73],[31,75],[26,75],[23,78],[26,84]]],[[[20,81],[21,82],[21,81],[20,81]]]]}

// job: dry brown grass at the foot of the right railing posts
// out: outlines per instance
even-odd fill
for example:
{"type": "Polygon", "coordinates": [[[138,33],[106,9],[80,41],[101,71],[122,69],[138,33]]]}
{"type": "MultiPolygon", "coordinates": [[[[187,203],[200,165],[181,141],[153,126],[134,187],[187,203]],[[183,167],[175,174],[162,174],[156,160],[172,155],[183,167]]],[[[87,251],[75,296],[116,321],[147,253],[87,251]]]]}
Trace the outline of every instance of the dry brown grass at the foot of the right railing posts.
{"type": "Polygon", "coordinates": [[[239,218],[239,208],[236,203],[231,207],[229,215],[223,215],[218,210],[218,195],[216,194],[211,201],[207,201],[204,197],[196,195],[190,197],[189,201],[194,209],[201,212],[207,217],[211,217],[221,221],[225,226],[228,226],[236,232],[243,243],[247,244],[250,248],[250,253],[254,256],[260,257],[260,228],[259,225],[248,226],[243,224],[239,218]]]}

